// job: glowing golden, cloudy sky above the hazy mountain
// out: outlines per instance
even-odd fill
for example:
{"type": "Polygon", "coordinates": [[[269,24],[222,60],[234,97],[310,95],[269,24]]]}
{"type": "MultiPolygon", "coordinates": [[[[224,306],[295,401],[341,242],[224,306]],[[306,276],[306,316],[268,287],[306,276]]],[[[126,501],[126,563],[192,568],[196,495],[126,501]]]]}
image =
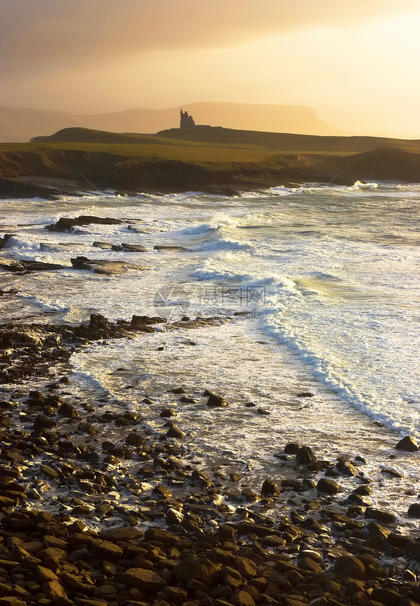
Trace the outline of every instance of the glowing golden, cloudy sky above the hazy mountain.
{"type": "Polygon", "coordinates": [[[420,133],[419,0],[0,0],[0,106],[296,104],[420,133]]]}

